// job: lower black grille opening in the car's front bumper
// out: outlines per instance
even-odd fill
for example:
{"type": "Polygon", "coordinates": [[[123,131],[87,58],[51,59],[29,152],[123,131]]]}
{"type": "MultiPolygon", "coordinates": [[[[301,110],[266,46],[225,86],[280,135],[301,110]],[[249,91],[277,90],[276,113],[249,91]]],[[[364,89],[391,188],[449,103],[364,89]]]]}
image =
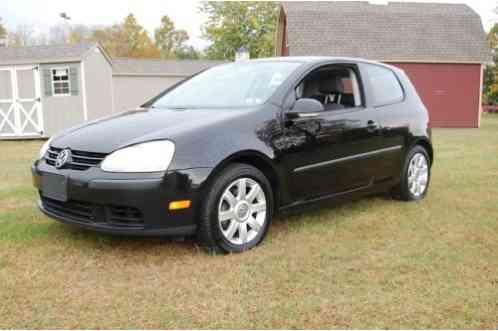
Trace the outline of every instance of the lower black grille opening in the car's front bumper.
{"type": "Polygon", "coordinates": [[[41,197],[43,208],[58,216],[90,224],[107,224],[123,228],[143,228],[140,209],[130,206],[100,205],[83,201],[62,202],[41,197]]]}

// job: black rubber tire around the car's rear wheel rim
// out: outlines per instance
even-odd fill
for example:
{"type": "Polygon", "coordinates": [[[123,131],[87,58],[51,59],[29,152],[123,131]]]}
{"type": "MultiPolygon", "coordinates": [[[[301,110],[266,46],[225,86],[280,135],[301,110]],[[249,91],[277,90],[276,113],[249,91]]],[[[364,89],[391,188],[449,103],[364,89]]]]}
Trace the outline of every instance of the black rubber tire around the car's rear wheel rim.
{"type": "Polygon", "coordinates": [[[410,149],[410,151],[406,154],[405,161],[403,164],[403,169],[401,172],[401,180],[400,183],[393,189],[392,193],[393,196],[397,199],[403,200],[403,201],[417,201],[417,200],[422,200],[426,194],[427,191],[429,190],[429,184],[431,181],[431,159],[429,157],[429,154],[427,153],[427,150],[420,146],[420,145],[415,145],[410,149]],[[420,194],[420,195],[414,195],[410,189],[409,189],[409,184],[408,184],[408,168],[410,165],[410,161],[416,154],[422,154],[428,165],[427,169],[427,185],[425,187],[425,190],[420,194]]]}

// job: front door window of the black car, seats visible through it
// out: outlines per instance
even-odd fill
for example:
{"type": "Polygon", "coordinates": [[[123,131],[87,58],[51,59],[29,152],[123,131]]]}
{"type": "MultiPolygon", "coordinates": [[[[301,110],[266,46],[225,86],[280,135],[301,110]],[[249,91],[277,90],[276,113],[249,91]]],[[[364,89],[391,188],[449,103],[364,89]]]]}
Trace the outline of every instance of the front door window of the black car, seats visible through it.
{"type": "Polygon", "coordinates": [[[326,111],[360,107],[362,97],[356,72],[349,67],[326,66],[309,73],[296,87],[298,99],[315,99],[326,111]]]}

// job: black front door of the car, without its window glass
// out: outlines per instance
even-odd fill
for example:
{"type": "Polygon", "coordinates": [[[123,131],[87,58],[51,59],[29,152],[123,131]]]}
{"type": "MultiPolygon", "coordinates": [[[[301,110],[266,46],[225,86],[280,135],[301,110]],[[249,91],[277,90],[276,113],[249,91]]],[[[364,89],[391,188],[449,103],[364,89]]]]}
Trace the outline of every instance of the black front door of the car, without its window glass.
{"type": "MultiPolygon", "coordinates": [[[[347,68],[355,75],[356,93],[362,94],[358,68],[347,68]]],[[[376,111],[365,106],[362,95],[355,99],[360,101],[344,109],[285,120],[288,144],[282,157],[294,200],[361,189],[374,181],[381,143],[376,111]]]]}

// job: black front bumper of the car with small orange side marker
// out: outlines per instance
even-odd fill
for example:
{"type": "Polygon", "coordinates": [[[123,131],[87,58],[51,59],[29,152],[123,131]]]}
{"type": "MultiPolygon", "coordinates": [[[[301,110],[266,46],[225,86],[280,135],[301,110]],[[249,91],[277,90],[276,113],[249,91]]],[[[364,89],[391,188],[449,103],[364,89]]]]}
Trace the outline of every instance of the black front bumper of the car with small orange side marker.
{"type": "Polygon", "coordinates": [[[195,233],[203,183],[211,168],[119,174],[97,167],[56,169],[39,160],[31,171],[40,194],[40,210],[58,221],[118,235],[183,236],[195,233]],[[44,196],[44,174],[67,178],[66,201],[44,196]],[[188,209],[170,211],[169,203],[176,200],[191,200],[192,204],[188,209]]]}

